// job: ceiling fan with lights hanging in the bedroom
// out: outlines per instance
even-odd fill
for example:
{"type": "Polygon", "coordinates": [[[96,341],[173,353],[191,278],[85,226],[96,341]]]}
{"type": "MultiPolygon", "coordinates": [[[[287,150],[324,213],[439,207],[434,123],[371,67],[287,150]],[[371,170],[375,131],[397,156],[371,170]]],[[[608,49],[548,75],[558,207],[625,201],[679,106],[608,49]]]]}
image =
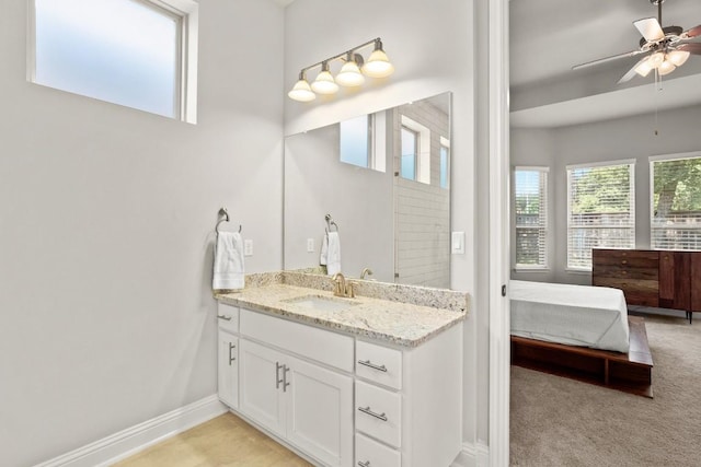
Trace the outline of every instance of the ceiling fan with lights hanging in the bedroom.
{"type": "Polygon", "coordinates": [[[656,70],[660,75],[669,74],[677,67],[682,66],[691,54],[701,55],[701,43],[690,42],[701,36],[701,24],[690,30],[683,31],[679,26],[662,26],[662,4],[665,0],[650,0],[657,5],[657,17],[645,17],[633,22],[633,25],[642,34],[640,48],[624,54],[601,58],[586,63],[575,65],[573,70],[599,65],[625,57],[633,57],[644,54],[628,73],[618,81],[619,84],[630,81],[640,74],[646,77],[652,70],[656,70]]]}

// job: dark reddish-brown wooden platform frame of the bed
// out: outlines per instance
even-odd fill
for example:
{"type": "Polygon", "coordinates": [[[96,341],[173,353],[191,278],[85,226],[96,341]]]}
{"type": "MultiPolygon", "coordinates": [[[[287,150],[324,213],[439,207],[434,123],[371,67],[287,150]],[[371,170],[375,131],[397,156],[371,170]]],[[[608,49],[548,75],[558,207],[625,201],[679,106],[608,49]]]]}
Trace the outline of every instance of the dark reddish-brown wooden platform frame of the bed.
{"type": "Polygon", "coordinates": [[[645,320],[629,316],[628,324],[628,353],[512,336],[512,364],[652,398],[653,357],[645,320]]]}

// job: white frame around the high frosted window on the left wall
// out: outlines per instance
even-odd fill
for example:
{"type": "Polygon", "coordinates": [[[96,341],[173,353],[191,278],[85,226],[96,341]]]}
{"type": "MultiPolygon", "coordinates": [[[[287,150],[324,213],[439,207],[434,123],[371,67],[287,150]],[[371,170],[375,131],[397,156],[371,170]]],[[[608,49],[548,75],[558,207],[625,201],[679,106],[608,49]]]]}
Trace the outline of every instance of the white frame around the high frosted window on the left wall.
{"type": "MultiPolygon", "coordinates": [[[[177,70],[175,72],[175,96],[173,96],[174,112],[172,117],[176,120],[188,124],[197,122],[197,54],[199,35],[199,4],[193,0],[125,0],[140,3],[146,8],[166,14],[177,21],[176,54],[177,70]]],[[[26,49],[26,80],[33,84],[44,85],[36,82],[36,0],[27,1],[27,49],[26,49]]],[[[119,105],[127,108],[138,109],[129,105],[111,101],[103,101],[96,97],[87,96],[81,93],[66,91],[60,87],[46,85],[57,91],[80,95],[82,97],[95,98],[110,104],[119,105]]]]}

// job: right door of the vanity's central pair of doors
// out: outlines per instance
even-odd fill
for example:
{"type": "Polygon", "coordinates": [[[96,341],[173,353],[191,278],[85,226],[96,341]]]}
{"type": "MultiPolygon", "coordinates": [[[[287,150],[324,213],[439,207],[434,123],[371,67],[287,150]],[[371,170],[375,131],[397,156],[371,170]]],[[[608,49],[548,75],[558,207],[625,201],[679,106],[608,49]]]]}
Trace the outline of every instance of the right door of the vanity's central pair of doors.
{"type": "Polygon", "coordinates": [[[353,380],[289,360],[287,439],[329,466],[353,465],[353,380]]]}

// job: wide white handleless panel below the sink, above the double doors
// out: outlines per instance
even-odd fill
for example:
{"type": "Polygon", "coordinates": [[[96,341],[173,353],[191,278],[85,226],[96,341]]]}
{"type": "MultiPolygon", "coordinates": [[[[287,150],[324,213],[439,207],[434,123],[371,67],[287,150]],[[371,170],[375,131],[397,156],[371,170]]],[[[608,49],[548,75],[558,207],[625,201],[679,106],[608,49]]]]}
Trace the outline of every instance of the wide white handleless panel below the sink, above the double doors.
{"type": "Polygon", "coordinates": [[[241,334],[286,351],[353,372],[354,339],[324,329],[241,310],[241,334]]]}

